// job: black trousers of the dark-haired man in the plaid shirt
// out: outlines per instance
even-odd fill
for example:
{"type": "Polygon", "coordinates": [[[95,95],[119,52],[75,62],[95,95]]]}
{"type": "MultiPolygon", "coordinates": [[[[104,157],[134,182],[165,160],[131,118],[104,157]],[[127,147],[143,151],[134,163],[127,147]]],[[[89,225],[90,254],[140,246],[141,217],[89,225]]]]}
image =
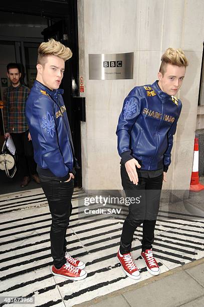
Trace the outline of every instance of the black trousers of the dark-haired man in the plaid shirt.
{"type": "Polygon", "coordinates": [[[19,158],[18,170],[22,177],[37,174],[33,144],[28,140],[28,133],[29,130],[22,133],[11,133],[19,158]]]}

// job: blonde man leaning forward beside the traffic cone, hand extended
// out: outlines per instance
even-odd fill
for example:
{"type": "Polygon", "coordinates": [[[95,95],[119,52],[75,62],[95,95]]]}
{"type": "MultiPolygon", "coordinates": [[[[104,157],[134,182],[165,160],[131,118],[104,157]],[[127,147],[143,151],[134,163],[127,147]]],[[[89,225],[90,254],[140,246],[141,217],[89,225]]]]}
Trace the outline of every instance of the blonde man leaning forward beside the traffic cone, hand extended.
{"type": "Polygon", "coordinates": [[[181,49],[168,48],[161,57],[158,80],[134,87],[124,100],[116,134],[121,157],[121,180],[126,197],[135,199],[124,221],[117,257],[123,270],[140,278],[131,254],[133,235],[142,224],[142,252],[148,272],[157,275],[159,265],[152,244],[159,210],[162,181],[171,163],[173,135],[181,111],[175,96],[188,61],[181,49]],[[136,200],[139,199],[139,203],[136,200]]]}

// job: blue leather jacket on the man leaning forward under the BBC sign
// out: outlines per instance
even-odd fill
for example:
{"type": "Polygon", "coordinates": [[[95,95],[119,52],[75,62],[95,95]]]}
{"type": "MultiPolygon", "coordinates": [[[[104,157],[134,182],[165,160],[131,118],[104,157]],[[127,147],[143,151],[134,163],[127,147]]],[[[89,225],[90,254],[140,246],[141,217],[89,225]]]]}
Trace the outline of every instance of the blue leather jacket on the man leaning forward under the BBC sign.
{"type": "Polygon", "coordinates": [[[116,131],[122,163],[135,158],[141,170],[167,172],[181,108],[181,101],[162,92],[157,81],[134,87],[124,100],[116,131]]]}

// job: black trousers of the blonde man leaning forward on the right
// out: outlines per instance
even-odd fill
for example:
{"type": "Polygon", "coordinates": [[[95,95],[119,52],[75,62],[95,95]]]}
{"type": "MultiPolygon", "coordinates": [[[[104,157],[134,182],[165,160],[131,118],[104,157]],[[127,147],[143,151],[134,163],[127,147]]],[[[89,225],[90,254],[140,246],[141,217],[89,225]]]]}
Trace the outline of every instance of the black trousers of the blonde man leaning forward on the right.
{"type": "Polygon", "coordinates": [[[134,185],[128,177],[125,166],[121,165],[121,180],[126,197],[137,199],[129,205],[129,213],[124,221],[120,253],[131,250],[136,228],[143,224],[142,251],[152,248],[154,229],[159,210],[159,201],[163,182],[163,174],[154,178],[144,178],[138,172],[138,185],[134,185]]]}

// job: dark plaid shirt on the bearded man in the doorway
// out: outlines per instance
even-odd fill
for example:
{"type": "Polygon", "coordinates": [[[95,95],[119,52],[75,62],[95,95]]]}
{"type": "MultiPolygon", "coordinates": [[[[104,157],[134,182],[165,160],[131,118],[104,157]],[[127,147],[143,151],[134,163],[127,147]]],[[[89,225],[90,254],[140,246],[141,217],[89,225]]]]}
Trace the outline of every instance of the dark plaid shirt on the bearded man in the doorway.
{"type": "Polygon", "coordinates": [[[30,89],[23,84],[8,87],[3,94],[5,133],[22,133],[29,129],[26,119],[26,100],[30,89]]]}

